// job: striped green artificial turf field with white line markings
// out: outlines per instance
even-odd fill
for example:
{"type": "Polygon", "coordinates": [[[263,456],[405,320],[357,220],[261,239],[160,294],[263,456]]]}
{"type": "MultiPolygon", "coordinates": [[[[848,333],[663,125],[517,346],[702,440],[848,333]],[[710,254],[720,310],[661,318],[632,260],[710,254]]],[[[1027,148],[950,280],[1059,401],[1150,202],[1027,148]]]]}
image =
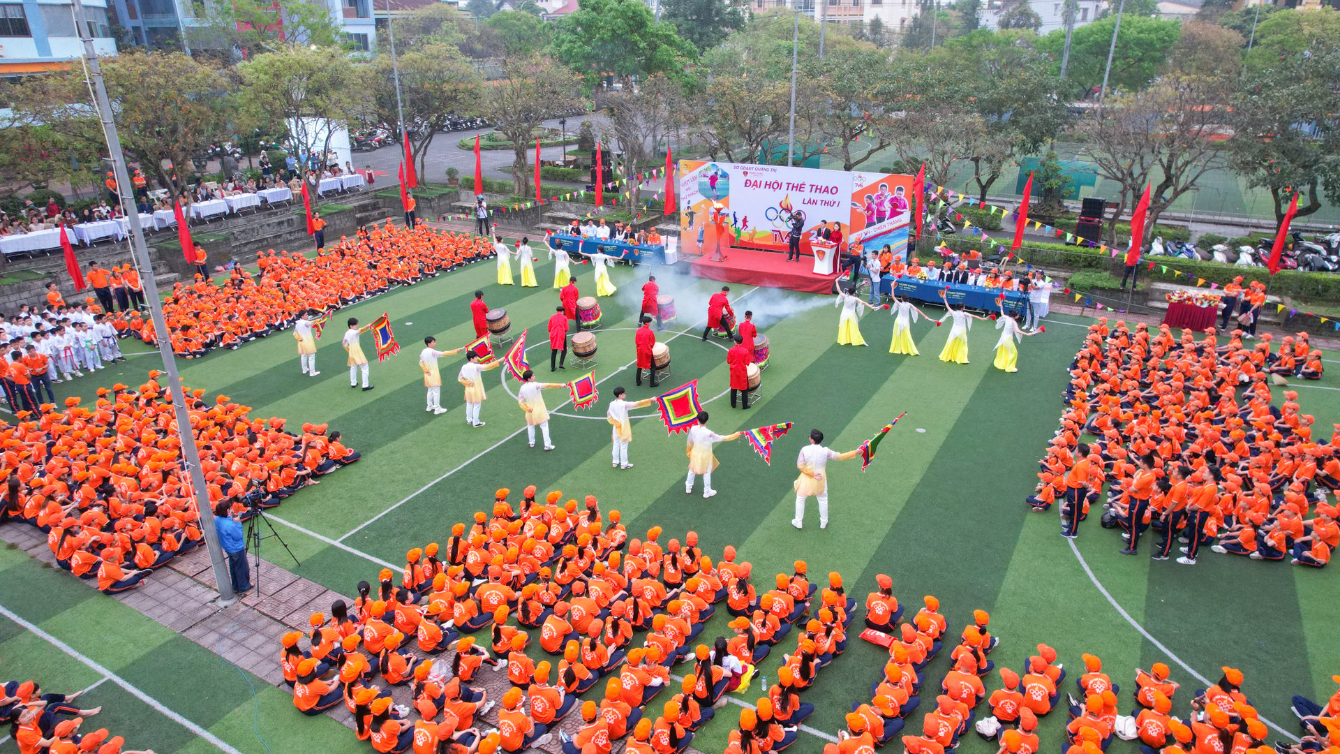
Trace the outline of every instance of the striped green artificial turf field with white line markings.
{"type": "MultiPolygon", "coordinates": [[[[578,270],[578,284],[584,294],[591,292],[590,267],[578,270]]],[[[540,266],[537,272],[545,286],[552,282],[549,264],[540,266]]],[[[627,386],[631,398],[654,394],[647,386],[634,386],[628,366],[632,313],[641,298],[638,288],[646,279],[643,270],[616,268],[614,279],[620,294],[600,299],[604,326],[596,331],[599,366],[595,368],[600,404],[578,412],[568,404],[559,405],[567,398],[564,390],[545,393],[553,412],[551,429],[557,445],[553,452],[527,447],[521,411],[508,394],[516,384],[509,378],[500,384],[500,370],[488,373],[489,400],[482,409],[488,425],[480,429],[465,425],[465,409],[453,380],[460,357],[441,362],[442,404],[449,412],[442,416],[425,412],[417,365],[422,338],[434,334],[438,347],[472,339],[468,303],[476,288],[485,291],[489,306],[508,310],[513,334],[531,327],[529,361],[540,380],[551,378],[544,322],[557,303],[556,291],[500,287],[493,284],[493,264],[481,263],[339,311],[319,342],[322,374],[316,378],[299,373],[288,333],[237,352],[180,362],[189,386],[230,396],[255,407],[256,416],[287,417],[291,427],[304,421],[330,423],[331,429],[343,432],[346,444],[363,453],[359,463],[272,511],[272,521],[302,565],[272,541],[265,542],[265,558],[351,594],[356,581],[375,581],[383,565],[403,563],[407,549],[445,541],[450,525],[485,508],[497,487],[511,487],[519,495],[524,486],[536,484],[541,496],[548,490],[561,490],[578,499],[595,495],[606,510],[623,511],[630,535],[662,526],[662,541],[682,539],[691,529],[714,559],[725,545],[736,545],[741,559],[754,563],[756,584],[766,585],[777,572],[791,573],[792,561],[803,558],[817,582],[824,582],[831,570],[842,573],[847,592],[858,601],[874,588],[878,573],[892,577],[894,593],[907,605],[909,614],[921,606],[923,594],[938,596],[954,636],[972,620],[974,608],[986,609],[992,614],[990,628],[1001,639],[993,653],[997,665],[1018,669],[1036,644],[1045,641],[1056,647],[1072,672],[1081,667],[1080,653],[1099,655],[1114,680],[1130,690],[1135,667],[1166,661],[1185,687],[1175,702],[1175,714],[1186,715],[1194,688],[1205,686],[1197,675],[1213,682],[1225,664],[1245,671],[1246,691],[1261,714],[1290,734],[1297,724],[1289,714],[1289,695],[1324,699],[1333,691],[1331,675],[1340,671],[1340,643],[1333,628],[1340,624],[1340,577],[1335,569],[1298,569],[1209,551],[1194,568],[1151,562],[1146,557],[1126,558],[1116,553],[1122,546],[1118,534],[1101,530],[1096,515],[1081,527],[1081,538],[1072,547],[1059,537],[1055,513],[1029,513],[1024,496],[1037,482],[1037,459],[1057,427],[1060,393],[1068,380],[1065,366],[1084,333],[1079,319],[1053,317],[1045,334],[1026,338],[1020,346],[1020,372],[1005,374],[990,364],[997,331],[989,323],[978,322],[973,329],[973,361],[959,366],[935,358],[946,327],[926,321],[914,325],[922,356],[891,356],[887,352],[892,318],[870,314],[862,321],[862,331],[871,347],[838,346],[838,313],[831,298],[733,286],[737,310],[753,309],[762,319],[761,333],[772,343],[772,366],[764,372],[762,396],[748,411],[740,411],[730,408],[725,394],[724,347],[717,341],[698,339],[704,302],[718,283],[658,275],[662,292],[674,294],[679,307],[679,319],[658,335],[670,339],[671,349],[673,377],[666,378],[663,388],[698,378],[712,412],[710,425],[720,433],[796,423],[791,435],[776,443],[770,467],[744,440],[718,445],[721,467],[713,484],[720,494],[705,500],[698,494],[683,494],[683,437],[667,437],[653,409],[638,412],[643,419],[634,423],[630,456],[636,467],[610,468],[604,402],[612,397],[614,386],[627,386]],[[366,323],[383,311],[391,315],[402,353],[373,362],[375,390],[351,390],[339,345],[344,319],[358,317],[366,323]],[[809,429],[823,429],[825,444],[846,451],[904,411],[907,416],[880,445],[868,471],[863,474],[858,462],[831,466],[828,529],[817,529],[812,499],[805,529],[792,529],[793,459],[808,441],[809,429]]],[[[363,345],[371,353],[368,337],[363,345]]],[[[74,392],[87,396],[95,386],[118,380],[138,384],[154,364],[153,356],[134,357],[96,373],[95,378],[62,385],[74,390],[58,396],[74,392]]],[[[552,378],[564,381],[582,373],[570,368],[552,378]]],[[[1319,427],[1340,421],[1337,385],[1340,381],[1328,373],[1316,385],[1300,386],[1300,402],[1305,412],[1317,416],[1319,427]]],[[[0,565],[4,562],[8,561],[0,565]]],[[[84,589],[66,581],[74,589],[84,589]]],[[[23,593],[21,584],[0,580],[0,602],[5,606],[34,623],[55,620],[51,605],[31,597],[20,600],[23,593]]],[[[90,592],[83,609],[94,605],[106,605],[115,614],[129,610],[90,592]]],[[[131,617],[138,616],[130,612],[131,617]]],[[[702,639],[709,643],[720,633],[729,633],[728,616],[725,610],[720,613],[704,632],[702,639]]],[[[139,629],[141,623],[150,635],[157,629],[147,621],[126,623],[127,631],[139,629]]],[[[0,621],[0,632],[9,628],[0,621]]],[[[850,706],[868,700],[870,684],[879,678],[886,652],[856,639],[859,629],[860,614],[852,625],[847,653],[824,668],[805,692],[805,700],[817,707],[808,726],[819,735],[804,734],[795,751],[819,751],[821,737],[836,734],[850,706]]],[[[90,652],[86,645],[91,639],[66,636],[66,640],[90,652]]],[[[24,641],[40,644],[27,637],[24,641]]],[[[788,637],[779,648],[789,651],[793,645],[795,640],[788,637]]],[[[196,659],[197,649],[182,639],[159,643],[153,655],[161,659],[138,663],[145,683],[170,688],[180,675],[177,668],[192,668],[201,661],[196,659]]],[[[776,678],[781,651],[764,664],[769,682],[776,678]]],[[[931,706],[930,698],[949,668],[947,655],[943,652],[927,668],[923,708],[931,706]]],[[[12,656],[0,647],[0,657],[9,661],[12,656]]],[[[68,661],[58,652],[43,656],[50,656],[58,668],[52,674],[67,680],[67,687],[91,683],[75,672],[78,668],[71,668],[68,678],[62,676],[60,668],[68,661]]],[[[42,676],[38,663],[25,663],[34,665],[25,664],[25,671],[42,676]]],[[[217,664],[222,669],[213,671],[212,678],[236,682],[236,669],[221,660],[217,664]]],[[[985,682],[988,690],[1000,686],[996,674],[985,682]]],[[[1069,679],[1065,687],[1073,690],[1069,679]]],[[[96,691],[110,694],[114,688],[105,684],[96,691]]],[[[216,726],[232,720],[228,730],[234,735],[228,742],[243,751],[263,751],[243,724],[251,722],[251,696],[245,690],[234,691],[228,696],[230,712],[201,711],[200,724],[217,730],[216,726]]],[[[752,702],[758,696],[757,684],[753,691],[737,698],[752,702]]],[[[275,751],[315,751],[316,747],[303,745],[310,737],[318,737],[320,750],[366,750],[352,734],[330,735],[334,724],[330,720],[311,720],[291,707],[281,708],[287,700],[268,706],[276,694],[283,692],[261,692],[267,714],[259,726],[275,751]]],[[[654,702],[657,711],[661,703],[662,699],[654,702]]],[[[1123,711],[1130,704],[1123,692],[1123,711]]],[[[194,712],[184,714],[196,719],[194,712]]],[[[153,712],[126,710],[125,715],[129,723],[121,727],[138,726],[147,719],[143,715],[153,712]]],[[[694,747],[721,751],[736,710],[728,708],[718,716],[724,719],[709,723],[694,747]]],[[[107,718],[102,724],[117,730],[111,715],[107,718]]],[[[1060,750],[1064,722],[1064,711],[1043,722],[1044,751],[1060,750]]],[[[161,719],[157,726],[145,722],[147,741],[133,743],[161,746],[159,754],[178,750],[168,743],[172,738],[162,724],[161,719]]],[[[909,730],[919,733],[919,714],[913,716],[909,730]]],[[[1272,731],[1272,738],[1278,738],[1277,731],[1272,731]]],[[[974,734],[963,741],[962,751],[996,751],[996,745],[986,745],[974,734]]],[[[1135,750],[1124,742],[1115,742],[1111,749],[1112,753],[1135,750]]]]}

